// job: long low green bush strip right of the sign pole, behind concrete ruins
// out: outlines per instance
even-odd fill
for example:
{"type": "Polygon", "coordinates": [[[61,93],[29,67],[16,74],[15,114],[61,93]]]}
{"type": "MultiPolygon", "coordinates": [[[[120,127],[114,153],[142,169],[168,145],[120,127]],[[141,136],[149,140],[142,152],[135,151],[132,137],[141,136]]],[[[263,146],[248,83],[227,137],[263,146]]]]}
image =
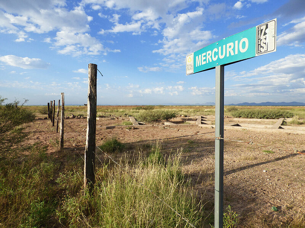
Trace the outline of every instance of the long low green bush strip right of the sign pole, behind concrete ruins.
{"type": "Polygon", "coordinates": [[[280,109],[241,109],[233,111],[232,116],[248,119],[279,119],[291,118],[293,117],[293,113],[280,109]]]}

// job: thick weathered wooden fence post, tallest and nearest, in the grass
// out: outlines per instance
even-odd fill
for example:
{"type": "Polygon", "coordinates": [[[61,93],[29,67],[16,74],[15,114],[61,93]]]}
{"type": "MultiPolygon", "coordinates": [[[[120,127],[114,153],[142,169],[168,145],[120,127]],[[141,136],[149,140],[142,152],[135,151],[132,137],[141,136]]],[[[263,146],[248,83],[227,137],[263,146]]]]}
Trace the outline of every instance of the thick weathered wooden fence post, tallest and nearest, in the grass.
{"type": "Polygon", "coordinates": [[[97,65],[88,65],[87,138],[85,147],[84,187],[92,193],[95,184],[95,147],[97,122],[97,65]]]}

